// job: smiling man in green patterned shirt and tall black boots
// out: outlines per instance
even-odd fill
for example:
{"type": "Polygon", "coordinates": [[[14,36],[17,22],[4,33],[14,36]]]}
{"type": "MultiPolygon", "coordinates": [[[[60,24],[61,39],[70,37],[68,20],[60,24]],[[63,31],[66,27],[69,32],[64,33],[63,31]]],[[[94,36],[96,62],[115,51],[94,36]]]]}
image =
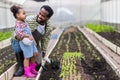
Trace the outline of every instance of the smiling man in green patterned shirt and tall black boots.
{"type": "MultiPolygon", "coordinates": [[[[32,21],[27,21],[32,29],[33,37],[37,44],[37,49],[39,51],[39,56],[37,59],[38,65],[42,63],[42,53],[46,53],[47,44],[50,39],[50,33],[52,31],[52,27],[50,27],[48,20],[54,14],[53,9],[44,5],[40,8],[40,11],[36,17],[32,19],[32,21]]],[[[23,54],[22,52],[19,54],[23,54]]],[[[16,55],[18,70],[15,72],[14,76],[23,75],[23,56],[16,55]]],[[[38,66],[39,69],[40,66],[38,66]]]]}

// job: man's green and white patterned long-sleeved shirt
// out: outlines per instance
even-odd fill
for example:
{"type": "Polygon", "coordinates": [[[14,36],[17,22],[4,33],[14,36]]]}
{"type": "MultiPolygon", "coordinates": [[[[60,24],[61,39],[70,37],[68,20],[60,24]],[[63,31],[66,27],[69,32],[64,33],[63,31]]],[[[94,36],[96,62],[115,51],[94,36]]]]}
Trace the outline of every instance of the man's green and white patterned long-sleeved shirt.
{"type": "MultiPolygon", "coordinates": [[[[32,31],[34,31],[37,28],[37,26],[39,25],[36,22],[36,15],[33,15],[32,17],[27,17],[26,22],[29,24],[32,31]]],[[[50,35],[51,35],[52,30],[53,30],[53,28],[51,27],[50,23],[47,22],[45,33],[43,34],[43,37],[42,37],[42,39],[40,41],[41,51],[46,52],[47,45],[48,45],[48,42],[50,40],[50,35]]]]}

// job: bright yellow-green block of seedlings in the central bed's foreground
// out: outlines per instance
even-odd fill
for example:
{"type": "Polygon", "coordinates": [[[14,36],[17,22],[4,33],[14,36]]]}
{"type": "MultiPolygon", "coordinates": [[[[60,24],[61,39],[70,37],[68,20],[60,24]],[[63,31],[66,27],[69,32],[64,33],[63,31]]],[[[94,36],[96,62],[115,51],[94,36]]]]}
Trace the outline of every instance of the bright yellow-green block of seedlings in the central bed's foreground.
{"type": "Polygon", "coordinates": [[[77,59],[84,59],[84,55],[79,52],[65,52],[62,59],[62,70],[60,77],[68,76],[69,74],[76,74],[77,59]]]}

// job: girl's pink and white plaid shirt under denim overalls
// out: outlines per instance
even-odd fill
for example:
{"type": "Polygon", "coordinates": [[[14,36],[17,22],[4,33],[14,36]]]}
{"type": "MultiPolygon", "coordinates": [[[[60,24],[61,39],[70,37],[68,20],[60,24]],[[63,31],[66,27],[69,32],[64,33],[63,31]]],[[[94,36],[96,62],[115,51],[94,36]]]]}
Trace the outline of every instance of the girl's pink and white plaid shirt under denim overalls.
{"type": "Polygon", "coordinates": [[[26,34],[23,31],[25,27],[27,27],[27,23],[26,22],[16,21],[16,23],[15,23],[15,33],[16,33],[16,36],[18,36],[19,38],[23,38],[24,35],[26,34]]]}

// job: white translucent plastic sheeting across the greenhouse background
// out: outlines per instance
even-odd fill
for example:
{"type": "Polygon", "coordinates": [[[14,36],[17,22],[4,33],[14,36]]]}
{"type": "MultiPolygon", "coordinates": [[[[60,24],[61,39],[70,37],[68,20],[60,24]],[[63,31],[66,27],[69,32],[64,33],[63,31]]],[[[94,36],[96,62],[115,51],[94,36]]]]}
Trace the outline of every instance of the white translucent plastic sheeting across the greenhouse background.
{"type": "MultiPolygon", "coordinates": [[[[110,22],[120,23],[120,0],[47,0],[36,2],[34,0],[8,0],[15,4],[22,4],[28,15],[37,15],[42,5],[50,5],[54,10],[51,22],[56,25],[63,23],[90,23],[110,22]]],[[[6,6],[6,5],[5,5],[6,6]]],[[[13,25],[14,17],[9,9],[0,8],[0,27],[13,25]],[[11,17],[9,17],[11,16],[11,17]],[[12,19],[12,22],[11,20],[12,19]]]]}

